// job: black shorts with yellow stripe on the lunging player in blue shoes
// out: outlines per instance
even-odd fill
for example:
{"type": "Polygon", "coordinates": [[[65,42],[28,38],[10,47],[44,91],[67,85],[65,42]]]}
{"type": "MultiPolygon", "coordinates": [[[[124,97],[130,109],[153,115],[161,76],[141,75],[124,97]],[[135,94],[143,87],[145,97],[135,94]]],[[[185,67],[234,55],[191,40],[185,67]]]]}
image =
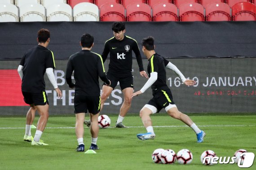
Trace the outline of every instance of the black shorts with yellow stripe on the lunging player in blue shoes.
{"type": "Polygon", "coordinates": [[[159,92],[156,92],[153,98],[147,104],[154,106],[157,109],[157,112],[167,107],[169,104],[175,105],[170,89],[165,91],[159,90],[159,92]]]}

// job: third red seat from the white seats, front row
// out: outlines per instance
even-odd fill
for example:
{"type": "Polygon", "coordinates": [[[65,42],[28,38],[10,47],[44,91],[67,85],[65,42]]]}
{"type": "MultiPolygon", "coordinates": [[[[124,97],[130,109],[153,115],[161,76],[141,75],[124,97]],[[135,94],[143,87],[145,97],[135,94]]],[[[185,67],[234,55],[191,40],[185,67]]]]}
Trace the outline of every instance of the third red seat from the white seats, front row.
{"type": "Polygon", "coordinates": [[[175,4],[159,3],[154,5],[153,21],[179,21],[175,4]]]}

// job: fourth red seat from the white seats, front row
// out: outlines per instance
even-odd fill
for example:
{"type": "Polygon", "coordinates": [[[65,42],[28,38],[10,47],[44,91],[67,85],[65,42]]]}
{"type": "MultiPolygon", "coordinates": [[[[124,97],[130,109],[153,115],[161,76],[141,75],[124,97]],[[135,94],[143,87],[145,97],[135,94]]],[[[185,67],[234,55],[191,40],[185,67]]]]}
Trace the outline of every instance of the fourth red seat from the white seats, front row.
{"type": "Polygon", "coordinates": [[[204,21],[204,9],[201,4],[187,3],[179,8],[180,21],[204,21]]]}

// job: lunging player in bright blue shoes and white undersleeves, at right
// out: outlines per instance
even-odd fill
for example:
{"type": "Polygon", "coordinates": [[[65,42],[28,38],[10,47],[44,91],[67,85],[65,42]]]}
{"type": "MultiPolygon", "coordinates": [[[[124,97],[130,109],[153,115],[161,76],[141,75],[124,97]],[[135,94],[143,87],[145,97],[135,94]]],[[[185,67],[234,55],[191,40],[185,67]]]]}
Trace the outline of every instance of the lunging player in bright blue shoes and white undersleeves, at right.
{"type": "Polygon", "coordinates": [[[153,92],[153,98],[141,109],[140,117],[146,127],[147,133],[137,134],[137,138],[141,140],[154,139],[155,134],[152,127],[151,114],[159,112],[162,108],[172,117],[181,120],[186,125],[190,126],[197,135],[197,142],[203,142],[205,136],[204,131],[201,131],[198,126],[185,114],[181,113],[172,99],[172,93],[166,84],[166,70],[173,70],[187,86],[193,86],[194,80],[186,79],[178,68],[171,62],[155,53],[154,38],[149,36],[142,40],[142,51],[148,58],[148,73],[150,78],[141,88],[140,91],[132,94],[131,97],[138,96],[145,92],[150,86],[153,92]]]}

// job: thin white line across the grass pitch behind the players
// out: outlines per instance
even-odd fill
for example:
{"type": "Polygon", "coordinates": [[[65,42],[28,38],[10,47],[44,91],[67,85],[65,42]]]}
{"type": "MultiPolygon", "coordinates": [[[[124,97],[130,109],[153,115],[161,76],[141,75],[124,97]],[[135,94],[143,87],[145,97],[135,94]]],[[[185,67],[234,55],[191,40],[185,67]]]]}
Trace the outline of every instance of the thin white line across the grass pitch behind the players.
{"type": "MultiPolygon", "coordinates": [[[[245,127],[245,126],[256,126],[256,125],[199,125],[199,127],[245,127]]],[[[128,128],[141,128],[144,126],[128,126],[128,128]]],[[[188,127],[184,126],[153,126],[153,127],[188,127]]],[[[114,128],[110,126],[109,128],[114,128]]],[[[0,127],[0,129],[25,129],[25,127],[0,127]]],[[[46,129],[75,129],[75,127],[46,127],[46,129]]]]}

